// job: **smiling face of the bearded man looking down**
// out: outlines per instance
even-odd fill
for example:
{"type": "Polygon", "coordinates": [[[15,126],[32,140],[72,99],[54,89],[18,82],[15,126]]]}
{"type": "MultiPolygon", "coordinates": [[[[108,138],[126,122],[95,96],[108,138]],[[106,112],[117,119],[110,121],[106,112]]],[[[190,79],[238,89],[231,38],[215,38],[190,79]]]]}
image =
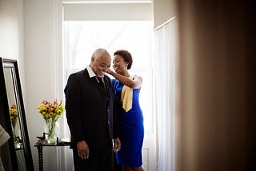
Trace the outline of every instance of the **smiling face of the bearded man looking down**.
{"type": "Polygon", "coordinates": [[[100,58],[92,59],[91,68],[97,77],[103,77],[106,70],[110,68],[111,58],[108,54],[103,54],[100,58]]]}

